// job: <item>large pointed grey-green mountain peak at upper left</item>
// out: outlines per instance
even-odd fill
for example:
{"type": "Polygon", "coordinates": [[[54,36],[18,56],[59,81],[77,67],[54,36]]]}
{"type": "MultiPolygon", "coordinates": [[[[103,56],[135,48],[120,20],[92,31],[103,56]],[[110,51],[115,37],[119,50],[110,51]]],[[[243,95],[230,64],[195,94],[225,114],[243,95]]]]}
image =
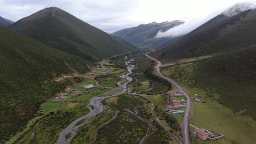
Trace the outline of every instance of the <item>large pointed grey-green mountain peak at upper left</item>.
{"type": "Polygon", "coordinates": [[[134,50],[133,47],[56,7],[42,9],[22,18],[9,26],[9,29],[91,61],[134,50]]]}

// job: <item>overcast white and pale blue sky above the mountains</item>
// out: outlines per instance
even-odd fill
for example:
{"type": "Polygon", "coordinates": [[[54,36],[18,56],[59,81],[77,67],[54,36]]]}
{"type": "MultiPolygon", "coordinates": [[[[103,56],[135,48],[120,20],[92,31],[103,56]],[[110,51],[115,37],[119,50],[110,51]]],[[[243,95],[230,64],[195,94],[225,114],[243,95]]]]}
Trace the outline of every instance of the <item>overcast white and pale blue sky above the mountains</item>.
{"type": "Polygon", "coordinates": [[[0,0],[0,16],[17,21],[58,7],[105,32],[153,21],[204,21],[238,2],[256,0],[0,0]]]}

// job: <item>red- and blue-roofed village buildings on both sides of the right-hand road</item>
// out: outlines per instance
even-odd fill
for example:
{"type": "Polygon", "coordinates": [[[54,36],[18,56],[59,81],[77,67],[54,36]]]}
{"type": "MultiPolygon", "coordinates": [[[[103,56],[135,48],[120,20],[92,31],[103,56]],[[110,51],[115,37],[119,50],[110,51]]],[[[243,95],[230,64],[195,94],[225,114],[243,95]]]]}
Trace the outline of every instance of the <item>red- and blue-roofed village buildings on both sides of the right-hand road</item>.
{"type": "MultiPolygon", "coordinates": [[[[197,94],[195,94],[197,96],[197,94]]],[[[170,105],[166,105],[165,112],[169,115],[176,115],[184,113],[186,107],[186,98],[179,90],[170,90],[163,95],[164,99],[169,102],[170,105]]],[[[201,102],[199,98],[192,98],[194,102],[201,102]]],[[[194,128],[193,137],[198,141],[209,140],[215,141],[223,138],[224,135],[218,134],[212,130],[205,130],[189,124],[194,128]]]]}

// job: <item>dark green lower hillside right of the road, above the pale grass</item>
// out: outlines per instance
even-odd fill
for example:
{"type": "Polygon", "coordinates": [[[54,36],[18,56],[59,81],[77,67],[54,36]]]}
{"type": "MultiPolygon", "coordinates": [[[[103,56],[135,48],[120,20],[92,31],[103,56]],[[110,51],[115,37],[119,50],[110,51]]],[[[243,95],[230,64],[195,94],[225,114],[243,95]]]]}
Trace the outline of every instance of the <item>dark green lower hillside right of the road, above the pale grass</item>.
{"type": "Polygon", "coordinates": [[[256,119],[256,46],[201,62],[165,68],[168,77],[200,88],[219,103],[256,119]]]}

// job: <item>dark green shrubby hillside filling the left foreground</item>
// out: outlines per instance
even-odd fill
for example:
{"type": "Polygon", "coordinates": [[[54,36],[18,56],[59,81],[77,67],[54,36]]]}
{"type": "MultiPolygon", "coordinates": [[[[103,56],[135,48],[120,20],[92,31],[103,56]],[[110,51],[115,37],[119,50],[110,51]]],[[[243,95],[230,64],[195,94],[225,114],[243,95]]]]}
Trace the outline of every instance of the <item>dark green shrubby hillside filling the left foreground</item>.
{"type": "Polygon", "coordinates": [[[40,103],[63,90],[64,83],[53,77],[71,72],[64,62],[79,72],[93,63],[44,45],[0,27],[0,143],[26,126],[40,103]]]}

